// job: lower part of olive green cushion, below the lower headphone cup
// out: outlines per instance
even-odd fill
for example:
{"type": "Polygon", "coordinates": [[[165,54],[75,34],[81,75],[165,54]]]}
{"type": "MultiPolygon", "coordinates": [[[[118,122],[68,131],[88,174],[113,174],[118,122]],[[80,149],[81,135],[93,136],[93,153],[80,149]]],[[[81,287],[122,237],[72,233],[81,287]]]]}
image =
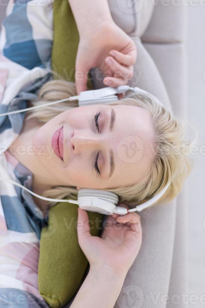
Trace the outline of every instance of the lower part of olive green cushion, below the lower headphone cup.
{"type": "MultiPolygon", "coordinates": [[[[77,207],[63,202],[51,207],[48,227],[43,228],[41,233],[39,292],[54,308],[64,306],[71,299],[88,265],[77,239],[77,207]]],[[[97,236],[104,215],[87,213],[91,234],[97,236]]]]}

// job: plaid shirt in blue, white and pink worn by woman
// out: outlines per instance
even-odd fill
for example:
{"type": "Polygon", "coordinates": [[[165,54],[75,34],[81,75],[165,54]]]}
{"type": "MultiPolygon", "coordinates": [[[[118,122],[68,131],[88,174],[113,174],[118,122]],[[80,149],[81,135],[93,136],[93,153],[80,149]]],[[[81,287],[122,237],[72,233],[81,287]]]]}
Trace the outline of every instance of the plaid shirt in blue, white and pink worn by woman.
{"type": "MultiPolygon", "coordinates": [[[[50,78],[52,0],[12,0],[0,36],[0,113],[25,108],[50,78]]],[[[32,187],[32,173],[8,152],[24,113],[0,117],[0,176],[32,187]]],[[[0,181],[0,307],[48,307],[38,290],[43,214],[31,195],[0,181]]]]}

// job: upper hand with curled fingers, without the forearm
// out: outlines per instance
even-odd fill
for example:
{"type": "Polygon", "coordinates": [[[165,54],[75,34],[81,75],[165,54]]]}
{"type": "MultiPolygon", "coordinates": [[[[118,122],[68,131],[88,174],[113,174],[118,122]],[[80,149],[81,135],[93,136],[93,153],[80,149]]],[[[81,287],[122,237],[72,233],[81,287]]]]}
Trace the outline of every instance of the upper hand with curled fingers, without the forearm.
{"type": "Polygon", "coordinates": [[[80,33],[76,57],[78,94],[87,90],[87,74],[93,67],[98,67],[106,76],[103,80],[105,85],[126,85],[133,76],[136,57],[134,41],[113,20],[86,29],[80,33]]]}

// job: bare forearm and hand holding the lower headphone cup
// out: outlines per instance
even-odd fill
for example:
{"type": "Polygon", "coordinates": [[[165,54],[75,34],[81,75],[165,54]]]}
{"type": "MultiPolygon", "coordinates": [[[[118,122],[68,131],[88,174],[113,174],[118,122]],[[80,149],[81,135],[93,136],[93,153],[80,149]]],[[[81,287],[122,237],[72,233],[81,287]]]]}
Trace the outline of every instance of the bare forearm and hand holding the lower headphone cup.
{"type": "Polygon", "coordinates": [[[87,222],[87,212],[78,208],[78,242],[90,271],[70,307],[113,308],[141,246],[140,216],[108,216],[101,238],[90,234],[87,222]]]}

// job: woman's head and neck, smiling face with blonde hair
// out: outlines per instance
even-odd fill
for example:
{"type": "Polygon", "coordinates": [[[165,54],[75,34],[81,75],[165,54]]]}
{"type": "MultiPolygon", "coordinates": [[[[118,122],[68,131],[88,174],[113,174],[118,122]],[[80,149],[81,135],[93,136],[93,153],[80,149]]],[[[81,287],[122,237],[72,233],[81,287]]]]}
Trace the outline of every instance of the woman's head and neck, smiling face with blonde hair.
{"type": "MultiPolygon", "coordinates": [[[[39,91],[39,101],[30,105],[75,95],[74,84],[50,81],[39,91]]],[[[33,173],[38,194],[63,198],[76,192],[74,187],[106,189],[121,203],[136,205],[171,181],[163,196],[171,200],[189,173],[188,144],[183,124],[150,97],[130,93],[108,105],[77,107],[76,101],[36,109],[27,114],[10,150],[32,146],[34,155],[16,153],[16,158],[33,173]],[[134,160],[127,154],[134,154],[134,160]]]]}

